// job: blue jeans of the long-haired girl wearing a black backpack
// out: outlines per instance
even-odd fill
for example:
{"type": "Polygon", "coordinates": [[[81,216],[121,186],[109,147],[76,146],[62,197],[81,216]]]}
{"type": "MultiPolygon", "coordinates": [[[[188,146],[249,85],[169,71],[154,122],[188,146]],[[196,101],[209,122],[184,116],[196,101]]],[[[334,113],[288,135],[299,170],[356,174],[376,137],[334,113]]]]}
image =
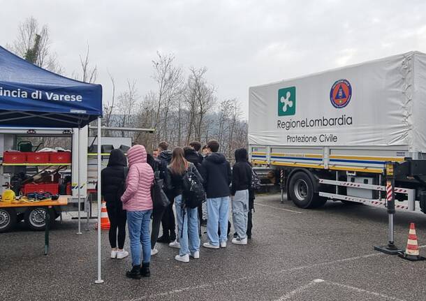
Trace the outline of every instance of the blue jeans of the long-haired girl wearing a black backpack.
{"type": "Polygon", "coordinates": [[[198,236],[198,208],[182,209],[182,195],[175,198],[177,220],[177,237],[179,237],[179,255],[200,251],[200,237],[198,236]],[[183,229],[183,231],[182,231],[183,229]]]}

